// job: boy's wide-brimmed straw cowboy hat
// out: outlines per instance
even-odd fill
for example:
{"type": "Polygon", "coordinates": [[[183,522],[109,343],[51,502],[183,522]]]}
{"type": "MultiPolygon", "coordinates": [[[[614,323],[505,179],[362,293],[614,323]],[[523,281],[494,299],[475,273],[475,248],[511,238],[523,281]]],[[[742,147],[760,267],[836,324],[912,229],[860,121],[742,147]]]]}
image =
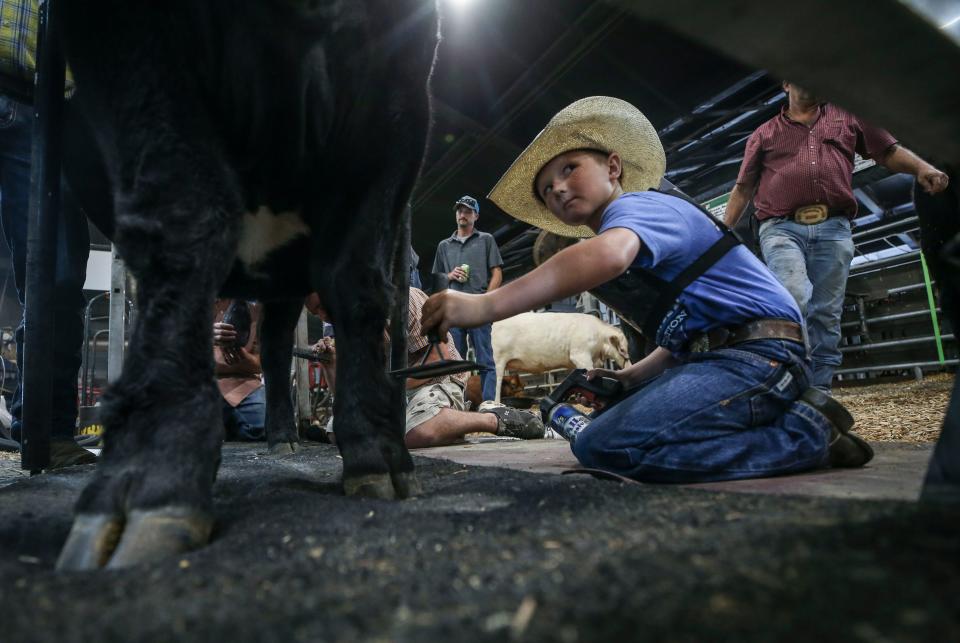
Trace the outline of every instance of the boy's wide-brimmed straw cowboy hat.
{"type": "Polygon", "coordinates": [[[624,192],[660,185],[666,157],[657,131],[640,110],[609,96],[583,98],[560,110],[537,134],[487,198],[512,217],[565,237],[592,237],[587,226],[563,223],[536,194],[534,180],[555,156],[572,150],[616,152],[623,162],[624,192]]]}

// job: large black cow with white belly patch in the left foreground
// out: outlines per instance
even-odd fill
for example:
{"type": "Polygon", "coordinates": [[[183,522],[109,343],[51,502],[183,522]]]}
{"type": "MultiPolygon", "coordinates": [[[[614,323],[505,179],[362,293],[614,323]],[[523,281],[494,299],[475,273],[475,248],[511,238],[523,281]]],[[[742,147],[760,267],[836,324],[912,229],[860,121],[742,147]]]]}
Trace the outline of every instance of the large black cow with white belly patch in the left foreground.
{"type": "MultiPolygon", "coordinates": [[[[344,491],[415,493],[382,335],[427,140],[436,5],[61,4],[74,102],[96,141],[75,148],[66,171],[91,214],[115,212],[104,227],[137,278],[139,312],[123,375],[103,396],[103,454],[59,567],[130,565],[209,538],[223,434],[211,359],[218,291],[264,302],[271,450],[297,444],[285,382],[301,302],[315,290],[342,356],[344,491]],[[91,188],[90,157],[112,200],[91,188]]],[[[82,141],[76,124],[67,133],[82,141]]]]}

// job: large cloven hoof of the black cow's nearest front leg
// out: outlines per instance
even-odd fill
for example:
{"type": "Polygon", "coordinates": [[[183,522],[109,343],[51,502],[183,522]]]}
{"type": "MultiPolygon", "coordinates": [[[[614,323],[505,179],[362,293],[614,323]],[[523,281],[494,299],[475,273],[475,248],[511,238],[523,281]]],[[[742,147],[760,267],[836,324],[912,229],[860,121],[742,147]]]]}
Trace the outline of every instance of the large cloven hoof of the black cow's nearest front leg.
{"type": "Polygon", "coordinates": [[[185,507],[134,510],[126,524],[115,516],[79,515],[57,569],[116,569],[151,563],[205,545],[212,531],[211,516],[185,507]]]}

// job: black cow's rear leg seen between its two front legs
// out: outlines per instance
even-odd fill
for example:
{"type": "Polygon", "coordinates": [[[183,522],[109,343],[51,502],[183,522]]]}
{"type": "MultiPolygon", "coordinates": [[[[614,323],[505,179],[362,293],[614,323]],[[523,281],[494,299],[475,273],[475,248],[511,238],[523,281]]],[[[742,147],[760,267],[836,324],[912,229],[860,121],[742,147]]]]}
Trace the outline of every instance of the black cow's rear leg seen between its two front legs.
{"type": "Polygon", "coordinates": [[[293,329],[302,308],[301,299],[263,304],[260,365],[267,394],[267,444],[276,455],[294,453],[300,446],[290,397],[290,362],[293,329]]]}

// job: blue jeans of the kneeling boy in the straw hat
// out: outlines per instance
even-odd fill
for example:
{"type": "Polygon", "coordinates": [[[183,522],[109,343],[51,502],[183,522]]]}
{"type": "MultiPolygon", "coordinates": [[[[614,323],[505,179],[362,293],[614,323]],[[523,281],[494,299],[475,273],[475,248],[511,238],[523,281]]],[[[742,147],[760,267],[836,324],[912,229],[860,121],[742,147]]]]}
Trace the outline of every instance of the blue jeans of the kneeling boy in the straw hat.
{"type": "Polygon", "coordinates": [[[577,435],[585,467],[647,482],[761,478],[827,460],[828,420],[797,398],[804,347],[760,340],[691,353],[577,435]]]}

